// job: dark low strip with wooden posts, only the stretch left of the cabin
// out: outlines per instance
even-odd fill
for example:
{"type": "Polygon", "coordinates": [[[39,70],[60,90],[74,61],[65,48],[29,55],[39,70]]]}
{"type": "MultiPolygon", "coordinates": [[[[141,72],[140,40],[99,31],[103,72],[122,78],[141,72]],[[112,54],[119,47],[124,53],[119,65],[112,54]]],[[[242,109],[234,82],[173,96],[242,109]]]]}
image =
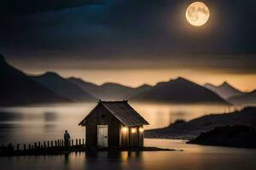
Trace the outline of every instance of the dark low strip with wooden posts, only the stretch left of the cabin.
{"type": "Polygon", "coordinates": [[[63,139],[57,139],[32,144],[2,144],[0,145],[0,156],[59,155],[84,150],[84,139],[70,139],[68,146],[65,146],[63,139]]]}

